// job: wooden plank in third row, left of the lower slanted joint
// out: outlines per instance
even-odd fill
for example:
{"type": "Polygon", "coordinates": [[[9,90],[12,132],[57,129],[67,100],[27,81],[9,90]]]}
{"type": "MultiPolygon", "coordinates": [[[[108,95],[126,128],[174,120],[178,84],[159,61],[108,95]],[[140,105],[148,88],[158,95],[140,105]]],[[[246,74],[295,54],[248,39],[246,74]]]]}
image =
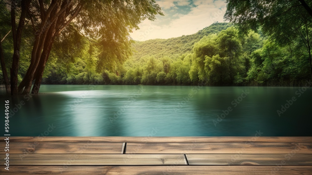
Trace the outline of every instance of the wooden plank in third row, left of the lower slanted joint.
{"type": "MultiPolygon", "coordinates": [[[[5,158],[1,154],[1,159],[5,158]]],[[[10,165],[187,165],[184,154],[10,154],[10,165]]]]}

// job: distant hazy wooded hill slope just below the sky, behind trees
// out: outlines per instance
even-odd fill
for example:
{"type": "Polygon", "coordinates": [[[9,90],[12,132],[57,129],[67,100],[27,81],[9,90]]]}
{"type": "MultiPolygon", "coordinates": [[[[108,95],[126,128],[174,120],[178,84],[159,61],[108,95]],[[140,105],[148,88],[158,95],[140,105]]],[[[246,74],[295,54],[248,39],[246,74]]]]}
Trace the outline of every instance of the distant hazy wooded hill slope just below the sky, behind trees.
{"type": "Polygon", "coordinates": [[[197,33],[191,35],[183,35],[181,37],[174,37],[169,39],[150,39],[147,41],[136,41],[133,44],[134,53],[133,58],[139,60],[144,56],[154,56],[161,58],[168,56],[175,58],[192,50],[195,42],[198,42],[203,36],[212,33],[218,33],[222,30],[231,27],[231,23],[213,23],[209,27],[205,27],[197,33]]]}

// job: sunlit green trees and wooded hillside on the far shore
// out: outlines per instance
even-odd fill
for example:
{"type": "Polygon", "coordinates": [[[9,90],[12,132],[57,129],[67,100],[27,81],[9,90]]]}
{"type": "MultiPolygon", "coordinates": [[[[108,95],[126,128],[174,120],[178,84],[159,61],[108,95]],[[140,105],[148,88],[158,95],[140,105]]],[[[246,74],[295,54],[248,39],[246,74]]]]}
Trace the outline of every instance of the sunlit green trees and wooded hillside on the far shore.
{"type": "Polygon", "coordinates": [[[71,57],[63,48],[54,53],[44,83],[298,86],[310,77],[301,47],[281,46],[261,30],[242,34],[231,23],[214,23],[192,35],[135,41],[132,56],[111,67],[98,64],[96,44],[86,40],[73,62],[56,61],[71,57]]]}

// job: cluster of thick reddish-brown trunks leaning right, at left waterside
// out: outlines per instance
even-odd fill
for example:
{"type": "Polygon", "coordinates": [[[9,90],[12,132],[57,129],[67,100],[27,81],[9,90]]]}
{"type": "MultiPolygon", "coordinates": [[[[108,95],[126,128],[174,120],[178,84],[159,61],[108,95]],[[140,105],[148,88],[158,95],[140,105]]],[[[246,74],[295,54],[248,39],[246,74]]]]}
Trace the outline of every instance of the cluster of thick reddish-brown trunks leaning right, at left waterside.
{"type": "MultiPolygon", "coordinates": [[[[43,5],[40,4],[40,6],[43,5]]],[[[46,12],[42,10],[42,22],[35,34],[31,63],[24,79],[18,86],[19,94],[29,94],[33,80],[35,80],[35,85],[32,93],[38,93],[54,38],[77,16],[82,7],[82,2],[79,2],[73,11],[71,11],[72,7],[73,0],[65,0],[63,2],[54,0],[46,12]],[[67,20],[68,15],[71,15],[71,17],[67,20]]]]}

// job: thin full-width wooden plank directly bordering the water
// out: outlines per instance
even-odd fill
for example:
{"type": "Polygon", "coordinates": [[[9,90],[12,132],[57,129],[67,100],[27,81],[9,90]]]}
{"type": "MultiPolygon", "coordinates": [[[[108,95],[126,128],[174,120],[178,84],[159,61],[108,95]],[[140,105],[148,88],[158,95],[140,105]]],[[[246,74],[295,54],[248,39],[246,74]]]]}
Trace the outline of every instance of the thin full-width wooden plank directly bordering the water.
{"type": "MultiPolygon", "coordinates": [[[[4,137],[0,137],[0,142],[4,137]]],[[[12,142],[132,142],[132,143],[199,143],[199,142],[290,142],[312,143],[312,137],[10,137],[12,142]]]]}

